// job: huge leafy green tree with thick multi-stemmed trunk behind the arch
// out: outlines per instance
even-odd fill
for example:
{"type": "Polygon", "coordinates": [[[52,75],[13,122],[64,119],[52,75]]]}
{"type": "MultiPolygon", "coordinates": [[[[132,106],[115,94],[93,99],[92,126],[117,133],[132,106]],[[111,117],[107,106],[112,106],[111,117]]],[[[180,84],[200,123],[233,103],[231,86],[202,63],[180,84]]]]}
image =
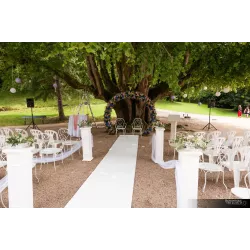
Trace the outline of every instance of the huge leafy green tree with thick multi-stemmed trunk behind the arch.
{"type": "MultiPolygon", "coordinates": [[[[247,42],[10,42],[1,43],[1,65],[36,64],[75,89],[108,102],[116,93],[139,91],[153,102],[203,86],[219,91],[249,83],[247,42]]],[[[123,100],[118,117],[148,121],[144,103],[123,100]]]]}

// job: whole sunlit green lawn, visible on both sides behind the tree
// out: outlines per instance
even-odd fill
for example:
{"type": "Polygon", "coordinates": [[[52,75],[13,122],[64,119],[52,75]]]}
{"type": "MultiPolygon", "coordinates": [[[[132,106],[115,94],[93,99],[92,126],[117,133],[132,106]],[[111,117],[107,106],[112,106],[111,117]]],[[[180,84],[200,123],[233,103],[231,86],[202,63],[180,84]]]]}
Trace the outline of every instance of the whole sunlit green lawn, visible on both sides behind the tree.
{"type": "MultiPolygon", "coordinates": [[[[11,126],[11,125],[23,125],[24,121],[22,116],[30,115],[30,108],[26,107],[26,98],[32,97],[29,94],[11,94],[9,92],[0,92],[0,126],[11,126]],[[2,109],[7,111],[1,111],[2,109]]],[[[64,112],[66,116],[72,114],[72,109],[80,103],[79,97],[72,98],[71,100],[64,101],[64,112]]],[[[91,107],[94,116],[97,120],[103,120],[103,113],[106,103],[102,100],[92,99],[91,107]]],[[[194,103],[183,103],[183,102],[167,102],[160,100],[156,102],[156,108],[167,109],[178,112],[186,112],[193,114],[208,114],[207,105],[198,106],[194,103]]],[[[90,115],[90,110],[85,106],[85,114],[90,115]]],[[[49,99],[44,102],[42,100],[35,100],[34,115],[46,115],[48,117],[47,123],[55,122],[55,117],[58,116],[57,102],[54,99],[49,99]]],[[[236,117],[236,112],[229,109],[213,108],[212,115],[215,116],[231,116],[236,117]]],[[[112,117],[115,117],[115,112],[112,112],[112,117]]],[[[39,120],[36,121],[39,124],[39,120]]]]}

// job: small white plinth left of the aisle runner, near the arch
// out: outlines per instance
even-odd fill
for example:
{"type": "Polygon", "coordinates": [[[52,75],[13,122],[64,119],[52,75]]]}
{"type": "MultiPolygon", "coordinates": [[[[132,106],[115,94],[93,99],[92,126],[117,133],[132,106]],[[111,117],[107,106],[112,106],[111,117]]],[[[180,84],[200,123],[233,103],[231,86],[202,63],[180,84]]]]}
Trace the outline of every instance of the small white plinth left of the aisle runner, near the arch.
{"type": "Polygon", "coordinates": [[[83,161],[91,161],[92,156],[92,127],[81,128],[83,161]]]}

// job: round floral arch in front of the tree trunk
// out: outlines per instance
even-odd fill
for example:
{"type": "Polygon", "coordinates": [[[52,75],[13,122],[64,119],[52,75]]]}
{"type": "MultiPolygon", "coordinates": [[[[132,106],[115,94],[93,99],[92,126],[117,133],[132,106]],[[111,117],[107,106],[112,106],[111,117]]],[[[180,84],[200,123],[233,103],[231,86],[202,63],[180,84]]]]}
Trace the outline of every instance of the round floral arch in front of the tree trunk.
{"type": "Polygon", "coordinates": [[[153,129],[152,128],[153,123],[156,122],[156,110],[155,110],[153,102],[147,96],[145,96],[144,94],[140,92],[130,92],[130,91],[122,92],[122,93],[115,95],[111,100],[109,100],[106,106],[105,112],[104,112],[105,126],[108,129],[112,128],[112,123],[110,121],[112,109],[117,102],[127,99],[127,98],[130,98],[132,100],[143,101],[146,103],[146,107],[149,108],[150,122],[149,122],[149,126],[146,128],[143,134],[144,135],[149,134],[153,129]]]}

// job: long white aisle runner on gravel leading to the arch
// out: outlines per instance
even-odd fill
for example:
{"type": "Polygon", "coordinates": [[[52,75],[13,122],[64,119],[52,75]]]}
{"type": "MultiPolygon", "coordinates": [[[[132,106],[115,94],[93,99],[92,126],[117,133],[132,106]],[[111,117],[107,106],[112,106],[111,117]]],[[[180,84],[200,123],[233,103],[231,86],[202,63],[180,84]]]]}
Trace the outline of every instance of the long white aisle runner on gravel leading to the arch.
{"type": "Polygon", "coordinates": [[[131,208],[138,135],[120,135],[66,208],[131,208]]]}

